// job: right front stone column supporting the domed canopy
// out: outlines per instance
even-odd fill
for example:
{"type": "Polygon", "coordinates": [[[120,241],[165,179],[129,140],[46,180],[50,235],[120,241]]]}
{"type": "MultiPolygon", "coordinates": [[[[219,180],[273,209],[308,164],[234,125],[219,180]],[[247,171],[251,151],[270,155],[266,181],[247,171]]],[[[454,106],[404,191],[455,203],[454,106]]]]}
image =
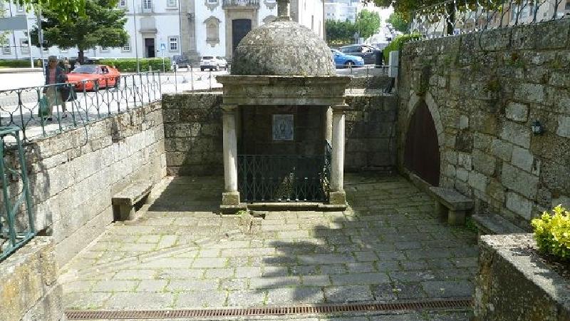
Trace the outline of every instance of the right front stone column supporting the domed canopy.
{"type": "Polygon", "coordinates": [[[344,111],[348,105],[336,105],[333,108],[333,157],[331,162],[330,203],[346,204],[344,181],[344,111]]]}

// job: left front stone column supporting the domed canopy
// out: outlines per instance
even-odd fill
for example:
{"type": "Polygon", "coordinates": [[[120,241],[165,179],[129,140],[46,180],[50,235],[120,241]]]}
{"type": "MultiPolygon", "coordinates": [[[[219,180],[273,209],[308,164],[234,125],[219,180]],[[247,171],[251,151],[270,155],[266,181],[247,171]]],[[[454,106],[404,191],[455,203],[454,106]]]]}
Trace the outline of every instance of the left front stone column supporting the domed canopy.
{"type": "Polygon", "coordinates": [[[237,105],[222,105],[224,123],[224,193],[222,205],[239,205],[237,191],[237,105]]]}

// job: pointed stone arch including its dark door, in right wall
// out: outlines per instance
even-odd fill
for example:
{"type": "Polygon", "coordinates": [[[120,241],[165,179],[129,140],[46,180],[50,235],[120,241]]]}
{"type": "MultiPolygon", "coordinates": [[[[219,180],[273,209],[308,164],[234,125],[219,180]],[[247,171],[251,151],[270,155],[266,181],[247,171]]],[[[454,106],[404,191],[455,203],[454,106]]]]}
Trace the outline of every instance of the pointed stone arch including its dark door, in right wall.
{"type": "Polygon", "coordinates": [[[430,93],[423,98],[413,94],[407,107],[401,137],[403,168],[430,185],[439,185],[444,146],[440,112],[430,93]]]}

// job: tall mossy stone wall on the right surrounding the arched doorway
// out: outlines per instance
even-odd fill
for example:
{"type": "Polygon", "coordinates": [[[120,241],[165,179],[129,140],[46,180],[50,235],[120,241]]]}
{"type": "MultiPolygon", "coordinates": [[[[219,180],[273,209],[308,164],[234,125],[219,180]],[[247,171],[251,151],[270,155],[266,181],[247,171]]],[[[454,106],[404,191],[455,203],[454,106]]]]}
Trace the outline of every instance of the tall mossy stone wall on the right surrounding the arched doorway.
{"type": "Polygon", "coordinates": [[[398,164],[425,102],[440,144],[440,185],[477,213],[528,228],[570,205],[570,20],[406,44],[400,55],[398,164]],[[534,121],[545,133],[534,135],[534,121]]]}

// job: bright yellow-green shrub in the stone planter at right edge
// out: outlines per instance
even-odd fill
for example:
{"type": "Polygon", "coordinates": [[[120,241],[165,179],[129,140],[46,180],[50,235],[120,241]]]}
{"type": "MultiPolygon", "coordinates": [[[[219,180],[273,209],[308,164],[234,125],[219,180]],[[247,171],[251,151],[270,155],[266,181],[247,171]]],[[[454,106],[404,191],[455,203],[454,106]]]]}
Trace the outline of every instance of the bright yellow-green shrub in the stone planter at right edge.
{"type": "Polygon", "coordinates": [[[541,253],[570,260],[570,212],[561,205],[552,212],[552,215],[544,212],[532,220],[534,239],[541,253]]]}

